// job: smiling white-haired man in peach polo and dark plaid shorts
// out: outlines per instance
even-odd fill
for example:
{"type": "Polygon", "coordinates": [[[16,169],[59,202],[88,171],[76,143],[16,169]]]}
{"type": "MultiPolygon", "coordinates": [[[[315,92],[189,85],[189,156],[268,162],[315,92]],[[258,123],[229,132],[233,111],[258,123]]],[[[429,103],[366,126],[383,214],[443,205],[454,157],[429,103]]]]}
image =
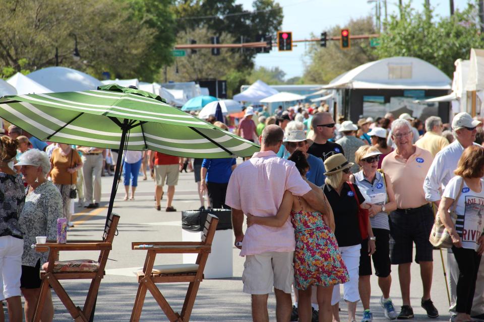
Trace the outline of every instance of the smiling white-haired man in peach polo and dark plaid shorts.
{"type": "Polygon", "coordinates": [[[414,243],[415,262],[420,265],[423,285],[421,306],[429,317],[437,317],[439,312],[430,299],[434,265],[429,236],[434,224],[434,213],[423,191],[423,181],[434,157],[428,150],[412,144],[412,126],[407,120],[393,121],[391,133],[397,148],[383,159],[382,170],[392,181],[397,202],[397,209],[389,217],[390,261],[398,265],[403,300],[397,318],[413,317],[410,305],[410,265],[414,243]]]}

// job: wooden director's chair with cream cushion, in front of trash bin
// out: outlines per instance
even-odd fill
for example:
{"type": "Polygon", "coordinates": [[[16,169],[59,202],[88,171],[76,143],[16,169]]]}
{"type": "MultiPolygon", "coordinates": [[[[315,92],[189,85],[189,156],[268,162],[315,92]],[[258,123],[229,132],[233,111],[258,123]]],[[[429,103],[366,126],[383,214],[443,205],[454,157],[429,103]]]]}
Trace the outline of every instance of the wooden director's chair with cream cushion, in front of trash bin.
{"type": "Polygon", "coordinates": [[[133,250],[146,250],[146,260],[143,270],[138,272],[138,293],[136,294],[135,305],[131,313],[130,321],[138,322],[141,316],[141,310],[145,301],[146,291],[150,290],[158,305],[161,307],[166,317],[171,322],[188,322],[195,303],[200,282],[203,280],[203,270],[212,248],[212,240],[217,228],[218,218],[208,214],[205,222],[202,241],[168,241],[151,243],[147,241],[137,241],[132,243],[133,250]],[[180,265],[160,265],[153,268],[156,254],[171,253],[198,253],[195,264],[180,265]],[[190,282],[185,296],[181,314],[175,313],[161,294],[155,283],[176,283],[190,282]]]}

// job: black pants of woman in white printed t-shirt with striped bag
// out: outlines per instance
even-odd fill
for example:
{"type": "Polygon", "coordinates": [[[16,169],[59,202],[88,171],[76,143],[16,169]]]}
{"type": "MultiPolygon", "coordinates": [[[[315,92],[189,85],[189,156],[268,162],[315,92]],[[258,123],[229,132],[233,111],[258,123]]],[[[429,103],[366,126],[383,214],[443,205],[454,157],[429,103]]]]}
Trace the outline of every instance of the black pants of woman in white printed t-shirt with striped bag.
{"type": "Polygon", "coordinates": [[[452,252],[460,271],[459,279],[457,280],[457,305],[455,310],[458,313],[470,314],[480,255],[477,255],[474,250],[457,248],[455,246],[452,247],[452,252]]]}

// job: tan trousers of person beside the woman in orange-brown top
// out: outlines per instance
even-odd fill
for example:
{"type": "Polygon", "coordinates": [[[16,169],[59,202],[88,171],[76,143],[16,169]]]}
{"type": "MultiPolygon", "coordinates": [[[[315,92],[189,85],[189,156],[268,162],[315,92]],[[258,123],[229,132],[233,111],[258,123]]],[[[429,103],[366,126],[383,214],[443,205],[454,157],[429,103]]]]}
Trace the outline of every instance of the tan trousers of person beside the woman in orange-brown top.
{"type": "Polygon", "coordinates": [[[84,200],[86,205],[101,201],[102,153],[82,156],[84,177],[84,200]]]}

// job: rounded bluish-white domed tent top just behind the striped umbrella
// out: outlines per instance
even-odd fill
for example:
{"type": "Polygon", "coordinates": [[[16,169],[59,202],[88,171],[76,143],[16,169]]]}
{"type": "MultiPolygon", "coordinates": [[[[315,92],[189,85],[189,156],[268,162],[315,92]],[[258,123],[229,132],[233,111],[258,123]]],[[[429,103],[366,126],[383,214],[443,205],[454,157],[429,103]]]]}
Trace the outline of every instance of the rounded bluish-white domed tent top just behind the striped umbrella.
{"type": "Polygon", "coordinates": [[[47,67],[27,75],[53,92],[96,90],[102,83],[91,75],[67,67],[47,67]]]}

